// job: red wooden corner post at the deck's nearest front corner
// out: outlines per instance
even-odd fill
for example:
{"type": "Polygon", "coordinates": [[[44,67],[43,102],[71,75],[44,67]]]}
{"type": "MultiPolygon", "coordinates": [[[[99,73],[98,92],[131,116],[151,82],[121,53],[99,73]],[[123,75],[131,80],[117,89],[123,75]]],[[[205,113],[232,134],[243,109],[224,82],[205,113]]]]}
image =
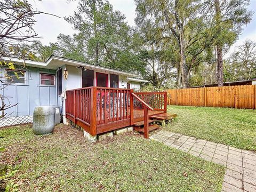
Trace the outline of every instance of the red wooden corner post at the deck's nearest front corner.
{"type": "Polygon", "coordinates": [[[90,134],[96,135],[96,110],[97,110],[97,87],[91,88],[91,105],[90,105],[90,134]]]}

